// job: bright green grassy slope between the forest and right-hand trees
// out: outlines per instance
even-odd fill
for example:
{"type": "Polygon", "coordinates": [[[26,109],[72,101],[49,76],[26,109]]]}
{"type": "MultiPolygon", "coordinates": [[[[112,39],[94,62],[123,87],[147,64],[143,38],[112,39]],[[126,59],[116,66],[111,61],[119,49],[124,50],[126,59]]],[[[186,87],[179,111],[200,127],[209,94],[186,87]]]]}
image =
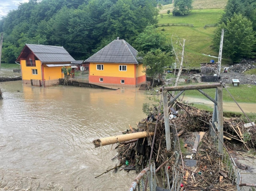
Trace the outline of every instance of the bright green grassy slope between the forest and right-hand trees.
{"type": "MultiPolygon", "coordinates": [[[[197,0],[201,1],[201,0],[197,0]]],[[[204,56],[218,56],[218,52],[211,48],[213,32],[215,27],[206,27],[205,24],[215,24],[219,22],[223,9],[194,9],[187,16],[172,16],[171,14],[163,14],[163,18],[158,15],[158,23],[187,23],[193,24],[194,27],[187,26],[164,26],[158,27],[158,30],[163,30],[168,34],[168,37],[172,37],[173,42],[178,39],[186,39],[185,42],[185,60],[187,66],[200,67],[200,62],[209,62],[217,58],[204,56]]],[[[223,58],[222,65],[230,63],[230,60],[223,58]]]]}

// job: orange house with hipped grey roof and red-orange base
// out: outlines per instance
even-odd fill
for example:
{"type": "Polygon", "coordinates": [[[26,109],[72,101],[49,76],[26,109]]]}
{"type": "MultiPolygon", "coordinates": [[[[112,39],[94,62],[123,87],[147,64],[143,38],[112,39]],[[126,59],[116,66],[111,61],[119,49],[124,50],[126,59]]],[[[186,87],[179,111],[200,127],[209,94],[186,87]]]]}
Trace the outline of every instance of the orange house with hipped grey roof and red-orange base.
{"type": "Polygon", "coordinates": [[[89,62],[89,83],[136,87],[146,81],[138,51],[119,37],[84,62],[89,62]]]}

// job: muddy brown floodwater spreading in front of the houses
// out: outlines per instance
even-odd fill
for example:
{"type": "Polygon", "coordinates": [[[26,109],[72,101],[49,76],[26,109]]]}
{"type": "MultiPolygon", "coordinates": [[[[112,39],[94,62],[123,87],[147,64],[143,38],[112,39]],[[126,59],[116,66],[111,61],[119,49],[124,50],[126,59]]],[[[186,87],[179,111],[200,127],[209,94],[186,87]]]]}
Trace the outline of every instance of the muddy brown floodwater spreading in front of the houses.
{"type": "MultiPolygon", "coordinates": [[[[19,75],[1,70],[10,74],[19,75]]],[[[145,118],[143,91],[39,88],[21,81],[0,88],[0,190],[127,190],[134,171],[94,178],[118,161],[111,161],[111,146],[95,149],[92,141],[145,118]]]]}

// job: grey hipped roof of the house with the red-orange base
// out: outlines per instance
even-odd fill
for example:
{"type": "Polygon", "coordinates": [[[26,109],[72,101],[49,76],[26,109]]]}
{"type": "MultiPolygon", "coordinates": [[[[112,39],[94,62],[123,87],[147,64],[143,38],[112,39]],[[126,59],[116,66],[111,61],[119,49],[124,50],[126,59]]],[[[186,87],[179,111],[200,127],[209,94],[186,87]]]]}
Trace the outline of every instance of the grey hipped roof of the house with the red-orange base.
{"type": "Polygon", "coordinates": [[[85,62],[110,62],[137,64],[138,51],[125,40],[114,40],[103,49],[89,57],[85,62]]]}

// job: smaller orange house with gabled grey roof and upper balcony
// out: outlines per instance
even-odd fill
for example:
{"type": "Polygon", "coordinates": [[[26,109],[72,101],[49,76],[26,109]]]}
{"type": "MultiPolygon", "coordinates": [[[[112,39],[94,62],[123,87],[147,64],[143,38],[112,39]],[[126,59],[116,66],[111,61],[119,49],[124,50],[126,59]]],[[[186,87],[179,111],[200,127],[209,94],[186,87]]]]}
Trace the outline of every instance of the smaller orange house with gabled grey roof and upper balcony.
{"type": "Polygon", "coordinates": [[[72,66],[75,61],[61,46],[26,44],[16,62],[20,62],[22,82],[50,86],[58,84],[63,76],[62,67],[72,66]]]}

